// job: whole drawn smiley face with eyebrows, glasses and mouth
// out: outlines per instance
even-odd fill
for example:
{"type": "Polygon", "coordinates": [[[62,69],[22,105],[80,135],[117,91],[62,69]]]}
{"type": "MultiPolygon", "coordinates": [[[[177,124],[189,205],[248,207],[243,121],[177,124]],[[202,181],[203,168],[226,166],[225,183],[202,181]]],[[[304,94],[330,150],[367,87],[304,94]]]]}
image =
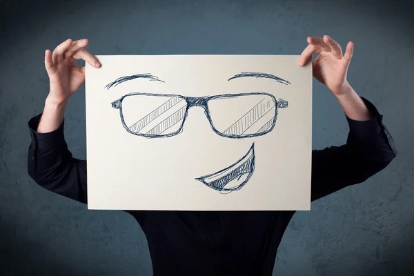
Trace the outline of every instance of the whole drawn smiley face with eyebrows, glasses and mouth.
{"type": "MultiPolygon", "coordinates": [[[[289,81],[260,72],[241,72],[228,79],[257,77],[274,79],[284,85],[289,81]]],[[[150,74],[120,77],[108,83],[107,89],[130,79],[146,78],[162,81],[150,74]]],[[[163,81],[164,82],[164,81],[163,81]]],[[[119,109],[121,124],[127,132],[149,139],[168,138],[183,132],[188,110],[204,108],[210,127],[217,135],[227,139],[253,139],[266,135],[275,127],[279,108],[286,108],[288,102],[276,99],[266,92],[224,94],[206,97],[185,97],[183,95],[153,94],[132,92],[112,101],[112,108],[119,109]],[[137,106],[145,106],[146,112],[137,114],[137,106]],[[237,106],[237,108],[229,108],[237,106]]],[[[255,142],[246,154],[226,168],[195,180],[207,187],[226,194],[240,190],[246,185],[255,171],[255,142]]]]}

